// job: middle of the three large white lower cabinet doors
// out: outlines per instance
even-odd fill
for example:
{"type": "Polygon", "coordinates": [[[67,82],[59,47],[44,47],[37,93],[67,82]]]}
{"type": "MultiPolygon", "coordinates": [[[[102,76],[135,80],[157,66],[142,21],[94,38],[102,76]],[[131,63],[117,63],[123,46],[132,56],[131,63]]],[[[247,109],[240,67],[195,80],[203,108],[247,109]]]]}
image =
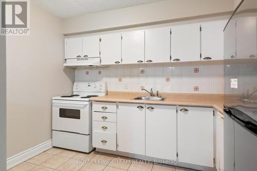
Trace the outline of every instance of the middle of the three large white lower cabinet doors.
{"type": "Polygon", "coordinates": [[[145,155],[176,160],[176,106],[145,108],[145,155]]]}

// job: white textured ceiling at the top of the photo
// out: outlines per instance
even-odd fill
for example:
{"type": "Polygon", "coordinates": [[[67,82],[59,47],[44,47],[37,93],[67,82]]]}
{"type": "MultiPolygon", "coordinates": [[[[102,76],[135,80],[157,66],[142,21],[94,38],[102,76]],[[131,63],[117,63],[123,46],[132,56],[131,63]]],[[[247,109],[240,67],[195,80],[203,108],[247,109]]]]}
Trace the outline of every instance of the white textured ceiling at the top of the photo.
{"type": "Polygon", "coordinates": [[[163,0],[33,0],[33,3],[61,18],[150,4],[163,0]]]}

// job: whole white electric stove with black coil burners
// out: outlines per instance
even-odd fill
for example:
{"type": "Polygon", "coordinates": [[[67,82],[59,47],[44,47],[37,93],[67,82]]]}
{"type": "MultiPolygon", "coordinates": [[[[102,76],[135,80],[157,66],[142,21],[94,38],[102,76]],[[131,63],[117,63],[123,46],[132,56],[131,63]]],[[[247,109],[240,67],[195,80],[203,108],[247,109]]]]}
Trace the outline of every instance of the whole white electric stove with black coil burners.
{"type": "Polygon", "coordinates": [[[105,82],[75,82],[73,94],[52,98],[52,145],[89,153],[92,146],[91,97],[105,96],[105,82]]]}

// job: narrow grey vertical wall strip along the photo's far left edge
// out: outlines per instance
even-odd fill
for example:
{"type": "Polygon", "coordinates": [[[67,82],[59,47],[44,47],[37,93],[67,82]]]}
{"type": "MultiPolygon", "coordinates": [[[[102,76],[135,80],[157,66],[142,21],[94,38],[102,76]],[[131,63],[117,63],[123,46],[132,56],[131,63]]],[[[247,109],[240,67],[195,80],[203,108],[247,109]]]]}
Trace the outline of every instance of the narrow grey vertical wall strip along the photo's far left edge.
{"type": "Polygon", "coordinates": [[[6,37],[0,35],[0,170],[6,170],[6,37]]]}

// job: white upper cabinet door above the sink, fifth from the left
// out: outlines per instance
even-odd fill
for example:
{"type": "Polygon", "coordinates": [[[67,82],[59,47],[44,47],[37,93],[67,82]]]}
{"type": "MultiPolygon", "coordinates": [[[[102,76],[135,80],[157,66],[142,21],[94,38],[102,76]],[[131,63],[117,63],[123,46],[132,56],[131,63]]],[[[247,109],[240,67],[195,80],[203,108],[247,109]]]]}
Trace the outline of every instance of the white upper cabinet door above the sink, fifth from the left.
{"type": "Polygon", "coordinates": [[[145,30],[145,63],[170,62],[170,27],[145,30]]]}

